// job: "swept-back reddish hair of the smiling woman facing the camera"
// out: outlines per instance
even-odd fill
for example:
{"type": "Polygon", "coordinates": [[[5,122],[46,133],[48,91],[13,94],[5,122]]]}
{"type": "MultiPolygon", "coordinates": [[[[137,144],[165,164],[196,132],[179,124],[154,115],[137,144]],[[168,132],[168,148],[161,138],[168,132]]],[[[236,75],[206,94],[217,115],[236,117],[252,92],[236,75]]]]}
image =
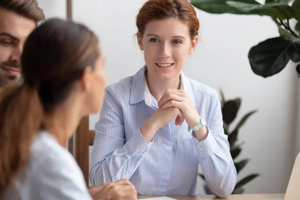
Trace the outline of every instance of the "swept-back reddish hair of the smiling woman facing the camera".
{"type": "Polygon", "coordinates": [[[142,36],[149,21],[167,18],[176,18],[186,23],[191,39],[198,35],[199,20],[195,9],[187,0],[148,0],[139,9],[136,26],[142,36]]]}

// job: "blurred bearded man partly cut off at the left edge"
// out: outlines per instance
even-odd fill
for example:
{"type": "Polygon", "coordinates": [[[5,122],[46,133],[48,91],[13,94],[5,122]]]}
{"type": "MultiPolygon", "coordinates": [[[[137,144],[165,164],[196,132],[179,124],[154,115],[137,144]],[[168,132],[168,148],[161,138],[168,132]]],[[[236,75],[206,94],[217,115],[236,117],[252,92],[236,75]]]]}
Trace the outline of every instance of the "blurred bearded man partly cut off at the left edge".
{"type": "Polygon", "coordinates": [[[20,78],[24,42],[42,20],[36,0],[0,0],[0,88],[20,78]]]}

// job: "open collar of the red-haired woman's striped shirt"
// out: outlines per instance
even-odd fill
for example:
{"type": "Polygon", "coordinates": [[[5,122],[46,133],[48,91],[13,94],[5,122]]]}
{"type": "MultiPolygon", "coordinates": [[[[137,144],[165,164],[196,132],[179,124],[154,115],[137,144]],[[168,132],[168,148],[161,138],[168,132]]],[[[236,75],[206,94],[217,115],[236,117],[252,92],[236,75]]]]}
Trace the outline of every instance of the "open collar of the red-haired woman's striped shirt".
{"type": "MultiPolygon", "coordinates": [[[[129,104],[138,103],[144,100],[146,105],[152,106],[153,99],[145,78],[145,67],[146,66],[144,65],[133,76],[129,104]]],[[[195,106],[195,99],[190,81],[182,71],[180,71],[180,89],[185,90],[190,101],[195,106]]]]}

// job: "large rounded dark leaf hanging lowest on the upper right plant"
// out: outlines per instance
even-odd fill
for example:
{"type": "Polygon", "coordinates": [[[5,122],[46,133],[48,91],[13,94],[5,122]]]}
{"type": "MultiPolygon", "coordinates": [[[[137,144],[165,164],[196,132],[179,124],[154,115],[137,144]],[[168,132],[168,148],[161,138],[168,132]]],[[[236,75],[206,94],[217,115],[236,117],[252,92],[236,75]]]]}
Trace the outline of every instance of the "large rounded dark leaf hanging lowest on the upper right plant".
{"type": "Polygon", "coordinates": [[[288,35],[281,35],[266,39],[251,47],[248,58],[252,71],[263,77],[271,76],[281,71],[290,59],[289,55],[294,55],[289,48],[292,46],[292,49],[298,39],[288,35]]]}

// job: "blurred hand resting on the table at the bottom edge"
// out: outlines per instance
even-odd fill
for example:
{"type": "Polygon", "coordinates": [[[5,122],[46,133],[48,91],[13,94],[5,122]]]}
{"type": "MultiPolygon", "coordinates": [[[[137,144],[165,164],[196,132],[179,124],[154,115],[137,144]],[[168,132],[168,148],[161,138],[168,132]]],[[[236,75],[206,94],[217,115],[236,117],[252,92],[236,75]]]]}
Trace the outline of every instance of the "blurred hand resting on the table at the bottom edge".
{"type": "Polygon", "coordinates": [[[134,185],[127,179],[100,184],[88,189],[94,200],[136,200],[134,185]]]}

